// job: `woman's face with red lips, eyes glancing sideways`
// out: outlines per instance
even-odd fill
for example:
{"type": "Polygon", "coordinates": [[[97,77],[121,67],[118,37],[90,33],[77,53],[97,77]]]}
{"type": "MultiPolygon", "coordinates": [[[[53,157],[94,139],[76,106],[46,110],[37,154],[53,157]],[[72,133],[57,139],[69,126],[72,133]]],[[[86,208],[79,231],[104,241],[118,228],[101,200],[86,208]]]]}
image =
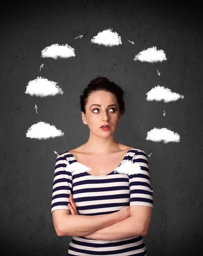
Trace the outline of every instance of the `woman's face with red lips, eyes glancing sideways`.
{"type": "Polygon", "coordinates": [[[82,116],[83,123],[87,124],[94,134],[100,134],[100,136],[103,135],[104,137],[114,134],[120,121],[120,111],[116,97],[113,93],[106,91],[92,93],[87,100],[86,115],[82,112],[82,116]],[[110,129],[103,131],[100,128],[101,125],[107,124],[111,125],[110,129]]]}

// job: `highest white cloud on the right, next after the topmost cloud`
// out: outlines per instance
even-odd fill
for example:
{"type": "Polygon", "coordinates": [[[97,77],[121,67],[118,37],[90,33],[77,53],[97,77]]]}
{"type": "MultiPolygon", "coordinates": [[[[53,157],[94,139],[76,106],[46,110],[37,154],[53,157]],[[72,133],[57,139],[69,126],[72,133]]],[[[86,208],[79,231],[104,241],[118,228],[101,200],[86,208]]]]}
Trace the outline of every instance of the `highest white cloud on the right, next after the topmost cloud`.
{"type": "Polygon", "coordinates": [[[134,61],[146,61],[146,62],[162,62],[166,61],[166,54],[163,50],[157,50],[157,47],[151,47],[146,50],[139,52],[134,57],[134,61]]]}

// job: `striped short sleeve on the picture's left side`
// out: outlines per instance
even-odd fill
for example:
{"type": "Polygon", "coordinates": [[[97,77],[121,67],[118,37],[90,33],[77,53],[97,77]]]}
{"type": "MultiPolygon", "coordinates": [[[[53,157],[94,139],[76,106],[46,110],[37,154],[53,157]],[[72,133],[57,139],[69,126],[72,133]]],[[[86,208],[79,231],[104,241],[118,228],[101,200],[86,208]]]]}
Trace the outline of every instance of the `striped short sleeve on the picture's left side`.
{"type": "Polygon", "coordinates": [[[51,214],[57,209],[67,209],[69,195],[72,192],[72,174],[66,171],[69,161],[63,155],[58,155],[55,163],[54,182],[51,199],[51,214]]]}

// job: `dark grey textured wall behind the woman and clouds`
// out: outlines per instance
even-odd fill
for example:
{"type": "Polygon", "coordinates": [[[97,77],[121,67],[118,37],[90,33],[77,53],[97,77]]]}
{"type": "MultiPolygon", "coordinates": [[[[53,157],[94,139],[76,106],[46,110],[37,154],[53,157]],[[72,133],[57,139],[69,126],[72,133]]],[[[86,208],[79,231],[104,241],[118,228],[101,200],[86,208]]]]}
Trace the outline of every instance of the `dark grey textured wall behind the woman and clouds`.
{"type": "Polygon", "coordinates": [[[1,6],[0,244],[4,256],[67,255],[71,238],[57,236],[51,215],[54,151],[60,154],[88,140],[89,128],[83,125],[77,104],[96,76],[106,76],[126,91],[126,113],[115,140],[142,148],[147,156],[152,153],[148,161],[154,209],[149,233],[143,237],[147,255],[201,254],[202,13],[195,1],[163,2],[27,1],[1,6]],[[121,36],[122,45],[91,44],[94,35],[109,28],[121,36]],[[79,35],[84,36],[74,39],[79,35]],[[76,56],[41,58],[41,50],[51,44],[69,44],[76,56]],[[152,46],[163,49],[167,61],[133,60],[152,46]],[[57,81],[64,94],[26,95],[27,83],[37,76],[57,81]],[[183,94],[184,99],[147,102],[146,93],[158,84],[183,94]],[[54,124],[65,135],[26,138],[28,128],[39,121],[54,124]],[[147,141],[146,134],[154,127],[177,132],[180,142],[147,141]]]}

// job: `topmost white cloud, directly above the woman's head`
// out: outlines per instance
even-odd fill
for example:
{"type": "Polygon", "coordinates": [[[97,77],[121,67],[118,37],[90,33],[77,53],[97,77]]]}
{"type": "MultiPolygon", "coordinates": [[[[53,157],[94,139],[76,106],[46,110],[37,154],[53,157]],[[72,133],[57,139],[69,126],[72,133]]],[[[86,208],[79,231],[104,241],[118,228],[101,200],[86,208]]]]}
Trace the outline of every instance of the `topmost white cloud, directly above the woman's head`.
{"type": "Polygon", "coordinates": [[[99,32],[96,36],[91,39],[91,43],[94,44],[103,44],[105,46],[113,46],[122,44],[121,37],[117,32],[112,32],[112,29],[106,29],[102,32],[99,32]]]}

